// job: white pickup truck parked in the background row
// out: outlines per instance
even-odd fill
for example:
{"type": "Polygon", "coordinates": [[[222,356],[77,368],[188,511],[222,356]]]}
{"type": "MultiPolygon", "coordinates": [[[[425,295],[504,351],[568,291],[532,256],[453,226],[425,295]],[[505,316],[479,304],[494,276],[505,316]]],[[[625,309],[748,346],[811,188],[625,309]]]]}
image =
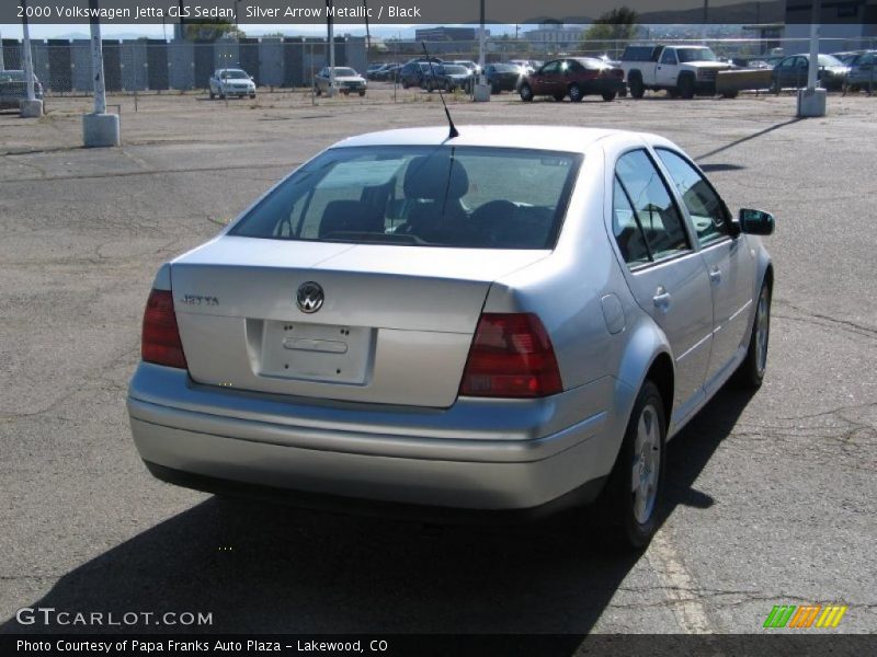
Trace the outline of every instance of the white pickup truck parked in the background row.
{"type": "MultiPolygon", "coordinates": [[[[732,64],[719,61],[706,46],[627,46],[622,55],[630,95],[641,99],[647,89],[664,89],[672,97],[716,95],[716,77],[732,64]]],[[[737,91],[722,93],[734,97],[737,91]]]]}

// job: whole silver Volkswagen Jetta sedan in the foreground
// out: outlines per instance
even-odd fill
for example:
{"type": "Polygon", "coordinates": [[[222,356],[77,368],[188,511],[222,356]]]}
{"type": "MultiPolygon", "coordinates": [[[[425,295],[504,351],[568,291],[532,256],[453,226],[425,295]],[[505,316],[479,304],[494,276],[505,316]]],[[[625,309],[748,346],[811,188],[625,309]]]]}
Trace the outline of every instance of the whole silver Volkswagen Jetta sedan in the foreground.
{"type": "Polygon", "coordinates": [[[667,440],[761,384],[773,224],[653,135],[341,141],[160,267],[134,440],[159,479],[299,504],[597,498],[642,546],[667,440]]]}

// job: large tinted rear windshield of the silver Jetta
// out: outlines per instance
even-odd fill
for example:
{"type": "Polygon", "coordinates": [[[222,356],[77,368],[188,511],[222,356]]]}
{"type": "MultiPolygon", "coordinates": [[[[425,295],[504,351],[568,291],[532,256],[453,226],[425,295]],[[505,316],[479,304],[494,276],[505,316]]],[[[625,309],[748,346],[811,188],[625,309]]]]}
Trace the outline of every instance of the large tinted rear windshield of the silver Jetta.
{"type": "Polygon", "coordinates": [[[482,147],[331,149],[230,230],[244,238],[553,249],[574,153],[482,147]]]}

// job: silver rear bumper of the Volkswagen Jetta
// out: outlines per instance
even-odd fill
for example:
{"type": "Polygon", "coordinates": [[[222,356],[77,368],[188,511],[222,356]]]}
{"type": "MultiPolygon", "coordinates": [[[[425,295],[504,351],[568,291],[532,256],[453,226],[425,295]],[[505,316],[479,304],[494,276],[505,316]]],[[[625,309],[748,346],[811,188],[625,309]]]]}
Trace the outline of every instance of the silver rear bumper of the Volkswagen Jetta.
{"type": "Polygon", "coordinates": [[[570,418],[577,406],[610,399],[613,385],[605,379],[527,402],[460,399],[447,410],[384,407],[204,387],[183,370],[141,364],[128,413],[150,470],[195,488],[225,482],[378,503],[528,509],[576,489],[590,496],[594,486],[584,485],[607,474],[617,443],[607,438],[606,412],[570,418]]]}

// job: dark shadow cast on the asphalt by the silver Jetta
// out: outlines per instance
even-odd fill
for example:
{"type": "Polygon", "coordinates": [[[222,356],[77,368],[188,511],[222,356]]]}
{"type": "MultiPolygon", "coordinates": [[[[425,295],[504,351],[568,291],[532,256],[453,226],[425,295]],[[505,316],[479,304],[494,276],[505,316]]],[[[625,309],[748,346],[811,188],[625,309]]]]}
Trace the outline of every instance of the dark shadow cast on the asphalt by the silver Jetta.
{"type": "MultiPolygon", "coordinates": [[[[709,506],[693,484],[749,399],[720,394],[671,443],[669,514],[709,506]]],[[[31,607],[113,612],[117,621],[125,612],[202,612],[212,625],[10,619],[0,633],[584,634],[641,555],[606,550],[559,521],[572,519],[437,528],[209,498],[65,574],[31,607]]]]}

